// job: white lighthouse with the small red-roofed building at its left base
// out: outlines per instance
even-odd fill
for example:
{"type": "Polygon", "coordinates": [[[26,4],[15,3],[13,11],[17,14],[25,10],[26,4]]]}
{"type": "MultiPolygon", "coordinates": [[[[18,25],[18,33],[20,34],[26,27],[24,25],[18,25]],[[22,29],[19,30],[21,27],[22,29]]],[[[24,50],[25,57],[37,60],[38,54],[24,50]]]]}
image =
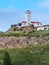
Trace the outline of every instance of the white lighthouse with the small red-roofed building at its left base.
{"type": "Polygon", "coordinates": [[[25,11],[25,21],[22,21],[21,27],[30,26],[31,24],[31,11],[25,11]]]}

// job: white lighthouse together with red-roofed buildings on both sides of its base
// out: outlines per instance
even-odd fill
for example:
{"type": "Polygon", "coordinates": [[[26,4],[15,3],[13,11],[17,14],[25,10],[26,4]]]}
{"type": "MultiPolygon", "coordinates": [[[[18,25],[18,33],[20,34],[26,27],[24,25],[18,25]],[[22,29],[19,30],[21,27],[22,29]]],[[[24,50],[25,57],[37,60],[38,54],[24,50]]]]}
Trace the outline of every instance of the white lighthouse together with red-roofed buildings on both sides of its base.
{"type": "Polygon", "coordinates": [[[22,21],[21,27],[30,26],[31,24],[33,24],[34,27],[41,26],[40,22],[31,22],[31,12],[30,10],[27,10],[25,12],[25,21],[22,21]]]}

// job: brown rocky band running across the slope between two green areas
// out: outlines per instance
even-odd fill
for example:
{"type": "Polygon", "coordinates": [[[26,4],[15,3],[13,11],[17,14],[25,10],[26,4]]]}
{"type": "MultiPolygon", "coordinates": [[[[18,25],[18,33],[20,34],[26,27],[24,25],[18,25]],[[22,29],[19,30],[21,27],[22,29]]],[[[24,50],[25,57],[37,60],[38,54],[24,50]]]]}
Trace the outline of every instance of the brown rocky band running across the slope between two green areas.
{"type": "Polygon", "coordinates": [[[49,36],[41,37],[0,37],[0,49],[24,47],[28,44],[49,43],[49,36]]]}

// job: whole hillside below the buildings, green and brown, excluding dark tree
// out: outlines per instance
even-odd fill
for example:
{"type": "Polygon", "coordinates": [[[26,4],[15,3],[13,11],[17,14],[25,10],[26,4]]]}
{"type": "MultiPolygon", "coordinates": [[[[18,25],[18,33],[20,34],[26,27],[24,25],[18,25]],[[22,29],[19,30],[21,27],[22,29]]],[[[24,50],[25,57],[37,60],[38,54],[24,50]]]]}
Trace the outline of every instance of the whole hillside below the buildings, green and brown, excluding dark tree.
{"type": "Polygon", "coordinates": [[[0,65],[5,52],[11,65],[49,65],[49,30],[0,33],[0,65]]]}

